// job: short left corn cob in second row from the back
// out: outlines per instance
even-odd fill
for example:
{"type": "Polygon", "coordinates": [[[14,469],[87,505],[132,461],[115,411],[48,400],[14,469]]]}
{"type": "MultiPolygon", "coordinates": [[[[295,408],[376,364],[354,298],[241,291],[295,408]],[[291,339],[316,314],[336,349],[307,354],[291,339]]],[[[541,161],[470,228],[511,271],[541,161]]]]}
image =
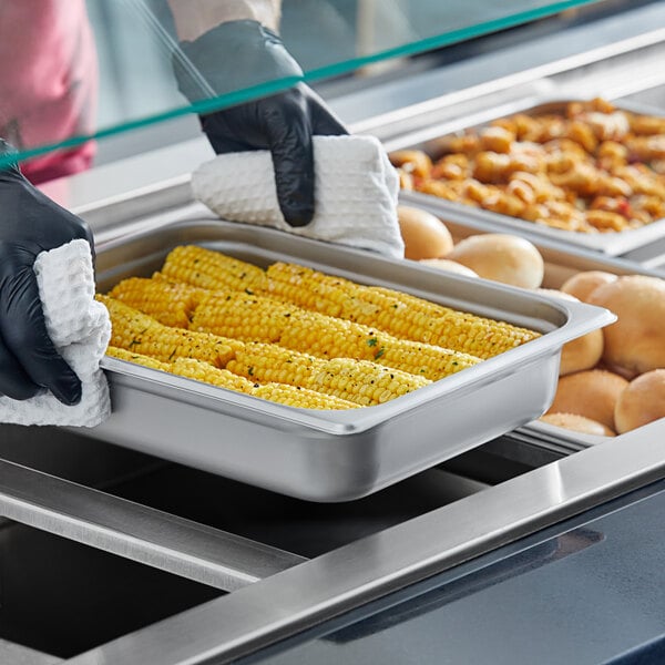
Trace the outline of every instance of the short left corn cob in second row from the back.
{"type": "Polygon", "coordinates": [[[152,316],[165,326],[187,328],[203,289],[164,277],[130,277],[109,293],[112,298],[152,316]]]}

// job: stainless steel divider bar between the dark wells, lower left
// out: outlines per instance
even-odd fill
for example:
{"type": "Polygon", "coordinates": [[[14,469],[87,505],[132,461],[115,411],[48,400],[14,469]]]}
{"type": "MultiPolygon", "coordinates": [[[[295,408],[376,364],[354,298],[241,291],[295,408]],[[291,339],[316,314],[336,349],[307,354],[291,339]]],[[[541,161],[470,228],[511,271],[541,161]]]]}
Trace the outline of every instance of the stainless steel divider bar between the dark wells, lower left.
{"type": "Polygon", "coordinates": [[[224,591],[305,561],[2,460],[0,514],[224,591]]]}

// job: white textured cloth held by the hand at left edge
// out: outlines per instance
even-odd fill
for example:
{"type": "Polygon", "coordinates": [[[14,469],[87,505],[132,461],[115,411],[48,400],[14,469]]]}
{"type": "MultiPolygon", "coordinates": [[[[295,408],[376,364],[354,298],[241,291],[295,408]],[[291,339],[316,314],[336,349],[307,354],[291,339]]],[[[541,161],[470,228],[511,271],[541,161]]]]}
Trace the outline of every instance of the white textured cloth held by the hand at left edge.
{"type": "Polygon", "coordinates": [[[78,239],[34,262],[47,330],[55,348],[81,379],[81,401],[73,407],[51,392],[27,400],[0,397],[0,422],[94,427],[111,415],[109,385],[100,369],[111,338],[106,308],[94,299],[94,272],[86,241],[78,239]]]}

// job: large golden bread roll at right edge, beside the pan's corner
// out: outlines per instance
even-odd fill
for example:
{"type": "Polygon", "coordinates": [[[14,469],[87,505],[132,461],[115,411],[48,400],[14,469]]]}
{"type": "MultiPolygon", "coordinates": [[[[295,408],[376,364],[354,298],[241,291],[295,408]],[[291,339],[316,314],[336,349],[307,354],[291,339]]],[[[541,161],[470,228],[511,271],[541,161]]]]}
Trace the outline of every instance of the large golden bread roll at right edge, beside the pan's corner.
{"type": "Polygon", "coordinates": [[[589,301],[614,311],[603,329],[603,360],[630,372],[665,368],[665,280],[630,275],[600,286],[589,301]]]}

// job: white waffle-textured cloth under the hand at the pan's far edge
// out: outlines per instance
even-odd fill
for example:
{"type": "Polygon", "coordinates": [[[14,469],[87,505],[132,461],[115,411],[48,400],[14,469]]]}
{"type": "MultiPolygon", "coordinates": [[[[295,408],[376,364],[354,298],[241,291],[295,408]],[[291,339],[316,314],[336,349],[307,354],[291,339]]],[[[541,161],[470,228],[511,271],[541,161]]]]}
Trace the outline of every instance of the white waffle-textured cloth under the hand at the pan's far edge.
{"type": "Polygon", "coordinates": [[[194,196],[233,222],[273,226],[295,235],[403,258],[397,219],[399,178],[374,136],[315,136],[315,215],[289,226],[277,202],[268,151],[218,155],[192,176],[194,196]]]}

